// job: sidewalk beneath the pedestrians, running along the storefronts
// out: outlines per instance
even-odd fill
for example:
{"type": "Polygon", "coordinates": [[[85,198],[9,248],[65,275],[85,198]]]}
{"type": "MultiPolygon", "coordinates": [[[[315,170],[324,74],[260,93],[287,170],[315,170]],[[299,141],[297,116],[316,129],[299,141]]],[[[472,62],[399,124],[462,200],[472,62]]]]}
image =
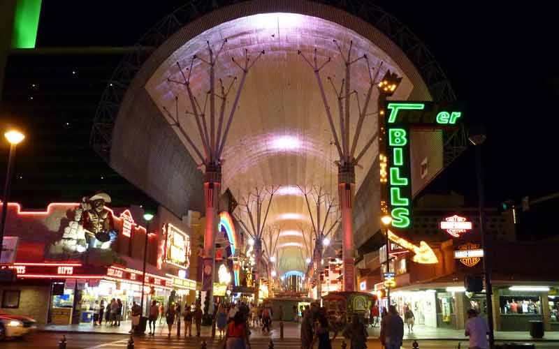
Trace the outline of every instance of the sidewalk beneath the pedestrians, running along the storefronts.
{"type": "MultiPolygon", "coordinates": [[[[122,321],[120,327],[110,327],[106,325],[93,326],[91,324],[81,325],[45,325],[39,327],[41,332],[64,332],[64,333],[99,333],[99,334],[124,334],[128,335],[131,328],[130,321],[122,321]]],[[[192,325],[192,330],[196,334],[196,327],[192,325]]],[[[252,338],[279,338],[279,322],[274,321],[270,334],[262,333],[260,329],[251,328],[252,338]]],[[[369,328],[369,338],[376,339],[379,336],[379,328],[369,328]]],[[[168,329],[165,321],[159,324],[157,322],[156,335],[167,335],[168,329]]],[[[171,336],[177,335],[177,325],[173,325],[171,336]]],[[[210,326],[202,326],[202,336],[209,338],[212,335],[212,328],[210,326]]],[[[181,322],[181,336],[184,336],[184,322],[181,322]]],[[[219,338],[219,331],[216,329],[216,336],[219,338]]],[[[341,336],[341,334],[338,334],[341,336]]],[[[300,338],[300,325],[295,322],[284,322],[284,338],[300,338]]],[[[404,334],[405,340],[467,340],[464,336],[463,329],[440,329],[433,327],[426,327],[424,325],[415,325],[414,331],[409,333],[407,328],[404,334]]],[[[559,341],[559,332],[546,332],[543,339],[532,339],[528,332],[495,332],[495,340],[497,341],[559,341]]]]}

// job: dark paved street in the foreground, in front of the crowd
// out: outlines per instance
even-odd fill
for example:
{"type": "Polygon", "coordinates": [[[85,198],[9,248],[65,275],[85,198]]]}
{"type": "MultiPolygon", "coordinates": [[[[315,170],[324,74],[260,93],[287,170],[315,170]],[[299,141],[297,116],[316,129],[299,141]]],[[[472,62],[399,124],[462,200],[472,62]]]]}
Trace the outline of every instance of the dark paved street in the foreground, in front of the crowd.
{"type": "MultiPolygon", "coordinates": [[[[1,343],[1,348],[13,349],[13,348],[58,348],[58,342],[61,338],[60,334],[55,333],[37,333],[34,336],[29,337],[24,340],[7,341],[6,343],[1,343]]],[[[119,334],[68,334],[66,336],[68,349],[78,349],[78,348],[126,348],[128,337],[119,334]]],[[[187,348],[187,349],[199,349],[201,348],[201,340],[196,338],[189,339],[177,339],[176,337],[168,339],[167,336],[155,336],[154,338],[148,337],[135,337],[135,348],[136,349],[147,349],[147,348],[187,348]]],[[[298,349],[300,348],[300,342],[298,339],[274,339],[275,349],[298,349]]],[[[467,342],[460,342],[460,348],[466,349],[467,342]]],[[[342,341],[334,341],[333,348],[340,349],[342,341]]],[[[208,341],[208,349],[223,348],[222,341],[208,341]],[[221,344],[221,345],[220,345],[221,344]]],[[[268,349],[269,339],[267,338],[256,338],[252,340],[252,348],[254,349],[268,349]]],[[[315,346],[316,347],[316,346],[315,346]]],[[[349,348],[349,343],[347,343],[347,348],[349,348]]],[[[420,349],[452,349],[458,348],[458,341],[419,341],[420,349]]],[[[536,344],[536,348],[559,348],[559,343],[557,342],[541,342],[536,344]]],[[[377,339],[371,339],[368,341],[368,349],[381,349],[377,339]]],[[[402,349],[412,349],[412,342],[405,341],[402,349]]]]}

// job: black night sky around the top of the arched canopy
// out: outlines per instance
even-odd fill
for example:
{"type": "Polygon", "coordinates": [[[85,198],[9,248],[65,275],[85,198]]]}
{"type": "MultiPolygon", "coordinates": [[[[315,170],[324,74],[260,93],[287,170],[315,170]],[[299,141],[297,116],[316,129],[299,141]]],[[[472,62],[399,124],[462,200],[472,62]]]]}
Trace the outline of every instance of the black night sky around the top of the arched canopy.
{"type": "MultiPolygon", "coordinates": [[[[43,0],[37,46],[133,45],[182,3],[134,1],[131,5],[113,0],[80,1],[77,6],[75,1],[43,0]]],[[[407,24],[435,54],[457,98],[467,103],[470,124],[486,126],[484,174],[489,205],[559,192],[559,166],[555,165],[559,113],[553,107],[559,101],[556,11],[513,3],[492,8],[487,6],[489,1],[477,5],[472,1],[462,5],[456,1],[376,3],[407,24]]],[[[115,66],[117,62],[90,64],[115,66]]],[[[85,137],[88,125],[80,126],[85,137]]],[[[427,191],[454,190],[475,202],[472,150],[465,151],[427,191]]],[[[1,168],[5,168],[5,158],[7,151],[1,148],[1,168]]],[[[79,160],[76,165],[80,166],[79,160]]],[[[108,167],[105,170],[110,172],[108,167]]],[[[22,186],[16,184],[16,197],[18,190],[22,186]]]]}

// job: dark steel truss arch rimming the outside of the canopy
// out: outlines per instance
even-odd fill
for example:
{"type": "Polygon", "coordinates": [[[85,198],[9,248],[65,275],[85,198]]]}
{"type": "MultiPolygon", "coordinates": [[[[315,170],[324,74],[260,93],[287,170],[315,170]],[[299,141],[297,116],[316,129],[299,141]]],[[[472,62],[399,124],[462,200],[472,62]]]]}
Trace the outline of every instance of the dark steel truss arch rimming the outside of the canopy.
{"type": "MultiPolygon", "coordinates": [[[[231,6],[249,0],[191,0],[177,8],[138,40],[136,50],[127,53],[115,69],[94,117],[90,144],[107,162],[110,162],[112,146],[112,130],[115,126],[119,105],[124,98],[126,89],[133,77],[138,73],[152,50],[163,44],[170,36],[190,22],[211,13],[218,8],[231,6]],[[152,50],[146,48],[152,47],[152,50]]],[[[307,0],[333,6],[365,20],[373,27],[382,31],[412,61],[421,73],[434,101],[455,101],[453,89],[440,64],[428,48],[421,43],[415,34],[393,15],[369,1],[363,0],[307,0]]],[[[465,149],[466,133],[463,128],[444,134],[444,166],[449,165],[465,149]]]]}

